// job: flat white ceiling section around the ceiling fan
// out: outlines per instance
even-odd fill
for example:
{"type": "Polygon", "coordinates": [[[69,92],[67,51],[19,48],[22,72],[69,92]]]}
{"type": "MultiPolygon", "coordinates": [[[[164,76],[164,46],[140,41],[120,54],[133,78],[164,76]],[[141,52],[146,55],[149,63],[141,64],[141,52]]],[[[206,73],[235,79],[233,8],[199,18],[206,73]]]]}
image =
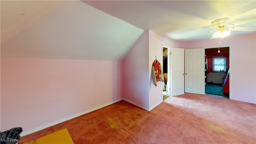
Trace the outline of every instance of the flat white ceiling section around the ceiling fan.
{"type": "MultiPolygon", "coordinates": [[[[143,30],[152,30],[178,43],[210,39],[211,22],[230,18],[228,24],[256,16],[255,0],[85,0],[82,1],[143,30]],[[199,36],[197,36],[199,35],[199,36]],[[196,36],[196,37],[193,37],[196,36]],[[191,38],[193,37],[193,38],[191,38]]],[[[256,30],[253,22],[239,25],[254,31],[235,31],[230,36],[256,30]]]]}

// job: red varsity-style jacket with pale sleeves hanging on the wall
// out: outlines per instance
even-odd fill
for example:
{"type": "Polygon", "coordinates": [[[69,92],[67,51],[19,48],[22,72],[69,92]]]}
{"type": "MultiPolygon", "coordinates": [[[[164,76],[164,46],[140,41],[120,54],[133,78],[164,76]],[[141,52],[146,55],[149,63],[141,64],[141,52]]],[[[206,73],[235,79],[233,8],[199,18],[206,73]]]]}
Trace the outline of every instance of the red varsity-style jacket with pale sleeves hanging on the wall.
{"type": "Polygon", "coordinates": [[[155,86],[157,86],[156,84],[158,81],[164,81],[164,74],[162,71],[161,64],[160,62],[158,62],[158,60],[154,60],[152,64],[152,79],[155,86]]]}

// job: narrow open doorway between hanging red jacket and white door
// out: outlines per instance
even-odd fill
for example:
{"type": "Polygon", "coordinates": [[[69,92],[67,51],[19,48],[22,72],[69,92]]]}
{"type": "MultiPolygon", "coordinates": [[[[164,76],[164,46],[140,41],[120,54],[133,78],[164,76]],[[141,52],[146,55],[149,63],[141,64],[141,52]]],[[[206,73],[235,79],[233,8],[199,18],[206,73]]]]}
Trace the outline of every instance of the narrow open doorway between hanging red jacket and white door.
{"type": "Polygon", "coordinates": [[[167,81],[168,81],[168,48],[163,47],[163,74],[164,74],[164,82],[163,84],[163,100],[169,97],[168,94],[168,86],[167,86],[167,81]]]}

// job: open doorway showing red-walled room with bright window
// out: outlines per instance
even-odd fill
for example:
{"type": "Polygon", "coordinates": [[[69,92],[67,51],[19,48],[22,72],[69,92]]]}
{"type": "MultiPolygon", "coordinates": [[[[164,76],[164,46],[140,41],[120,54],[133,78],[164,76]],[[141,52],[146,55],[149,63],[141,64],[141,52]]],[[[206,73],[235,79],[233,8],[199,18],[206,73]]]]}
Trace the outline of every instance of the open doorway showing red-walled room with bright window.
{"type": "Polygon", "coordinates": [[[205,49],[206,94],[229,98],[229,51],[229,47],[205,49]]]}

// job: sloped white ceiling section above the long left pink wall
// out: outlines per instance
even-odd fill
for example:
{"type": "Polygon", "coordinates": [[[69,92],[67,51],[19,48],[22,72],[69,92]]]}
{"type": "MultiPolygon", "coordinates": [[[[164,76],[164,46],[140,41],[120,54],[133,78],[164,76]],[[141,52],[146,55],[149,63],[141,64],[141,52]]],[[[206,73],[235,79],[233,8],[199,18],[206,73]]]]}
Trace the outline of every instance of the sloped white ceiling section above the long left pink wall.
{"type": "Polygon", "coordinates": [[[120,60],[143,32],[81,1],[1,0],[1,58],[120,60]]]}

